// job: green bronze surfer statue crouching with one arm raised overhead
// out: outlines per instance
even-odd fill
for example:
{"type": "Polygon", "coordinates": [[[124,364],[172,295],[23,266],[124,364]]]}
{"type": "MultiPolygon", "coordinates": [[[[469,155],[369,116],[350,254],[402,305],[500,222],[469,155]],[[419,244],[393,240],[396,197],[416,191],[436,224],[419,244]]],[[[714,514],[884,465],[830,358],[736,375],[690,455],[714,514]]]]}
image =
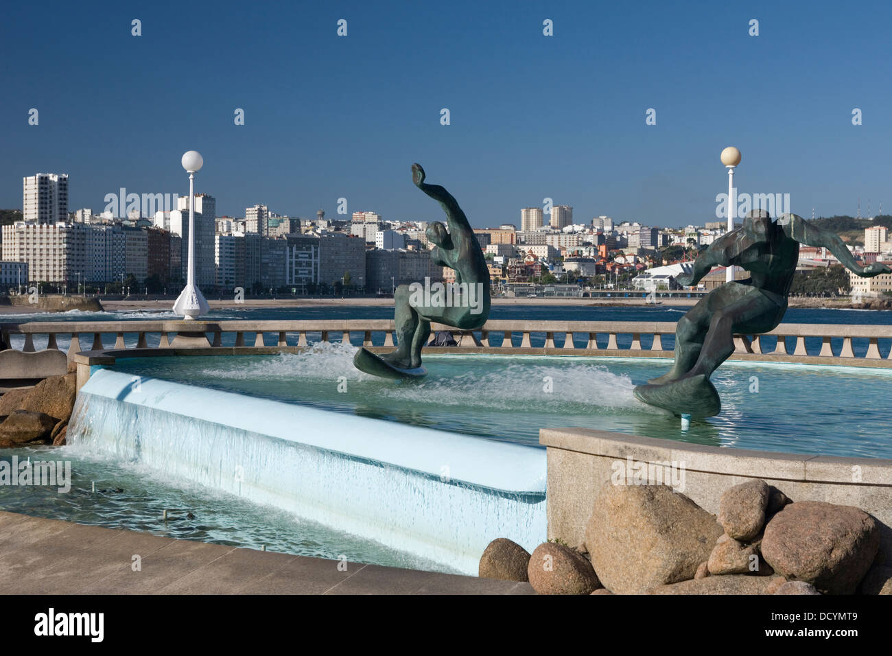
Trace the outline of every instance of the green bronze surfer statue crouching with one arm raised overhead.
{"type": "Polygon", "coordinates": [[[396,351],[378,357],[362,348],[353,357],[357,369],[384,378],[425,375],[421,349],[431,334],[431,322],[474,330],[490,316],[490,270],[465,212],[446,189],[425,183],[425,170],[420,164],[412,164],[412,180],[446,212],[449,229],[435,221],[427,227],[426,236],[434,244],[431,262],[455,270],[455,282],[432,285],[425,278],[423,283],[397,287],[393,295],[396,351]]]}

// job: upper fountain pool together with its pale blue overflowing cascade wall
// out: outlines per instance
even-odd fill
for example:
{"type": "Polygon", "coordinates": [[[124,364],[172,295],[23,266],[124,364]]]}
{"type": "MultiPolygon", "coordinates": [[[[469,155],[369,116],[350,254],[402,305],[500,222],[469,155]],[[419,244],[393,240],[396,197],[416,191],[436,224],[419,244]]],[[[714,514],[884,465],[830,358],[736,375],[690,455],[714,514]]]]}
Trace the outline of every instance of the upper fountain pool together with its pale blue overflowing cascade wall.
{"type": "Polygon", "coordinates": [[[120,358],[78,394],[67,448],[332,531],[316,552],[351,536],[360,561],[468,574],[495,537],[545,539],[540,428],[892,457],[889,370],[726,362],[722,414],[682,431],[632,395],[667,360],[426,355],[427,378],[394,382],[355,370],[355,351],[120,358]]]}

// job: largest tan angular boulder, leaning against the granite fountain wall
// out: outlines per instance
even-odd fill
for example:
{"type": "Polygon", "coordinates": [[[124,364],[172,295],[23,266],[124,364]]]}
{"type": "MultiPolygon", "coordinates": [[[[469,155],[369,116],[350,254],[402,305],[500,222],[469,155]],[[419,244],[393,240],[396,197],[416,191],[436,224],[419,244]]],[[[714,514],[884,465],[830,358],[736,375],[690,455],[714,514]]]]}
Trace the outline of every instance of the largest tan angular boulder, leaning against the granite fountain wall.
{"type": "Polygon", "coordinates": [[[607,482],[585,532],[591,564],[615,594],[639,594],[693,578],[722,527],[669,486],[607,482]]]}

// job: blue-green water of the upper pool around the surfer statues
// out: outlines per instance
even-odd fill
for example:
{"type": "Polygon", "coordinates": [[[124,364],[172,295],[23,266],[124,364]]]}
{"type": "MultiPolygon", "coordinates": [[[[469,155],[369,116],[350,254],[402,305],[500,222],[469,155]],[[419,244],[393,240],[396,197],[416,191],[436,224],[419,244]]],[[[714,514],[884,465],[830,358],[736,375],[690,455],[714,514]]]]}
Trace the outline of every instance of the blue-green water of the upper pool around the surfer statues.
{"type": "MultiPolygon", "coordinates": [[[[892,371],[728,361],[714,373],[722,413],[683,431],[635,385],[669,360],[426,355],[419,382],[374,378],[351,345],[297,354],[121,359],[116,370],[333,412],[538,444],[540,428],[581,427],[743,449],[892,458],[892,371]]],[[[332,418],[336,430],[337,419],[332,418]]]]}

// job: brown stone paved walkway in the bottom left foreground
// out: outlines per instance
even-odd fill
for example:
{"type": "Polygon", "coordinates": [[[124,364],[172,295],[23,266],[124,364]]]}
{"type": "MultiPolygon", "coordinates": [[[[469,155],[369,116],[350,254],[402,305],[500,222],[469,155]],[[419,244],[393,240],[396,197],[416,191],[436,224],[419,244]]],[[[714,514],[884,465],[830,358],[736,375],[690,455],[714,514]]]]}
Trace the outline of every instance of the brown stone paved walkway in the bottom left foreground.
{"type": "Polygon", "coordinates": [[[534,594],[528,583],[337,566],[0,511],[0,594],[534,594]]]}

